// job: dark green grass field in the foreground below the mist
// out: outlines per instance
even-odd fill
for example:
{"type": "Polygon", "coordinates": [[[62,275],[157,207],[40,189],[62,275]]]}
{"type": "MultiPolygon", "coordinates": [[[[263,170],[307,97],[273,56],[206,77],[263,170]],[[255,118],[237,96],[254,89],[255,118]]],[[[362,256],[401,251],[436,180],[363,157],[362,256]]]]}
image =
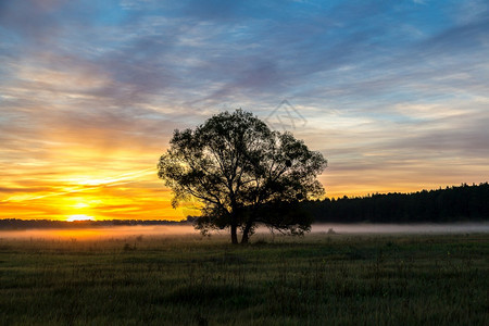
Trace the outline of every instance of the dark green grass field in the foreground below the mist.
{"type": "Polygon", "coordinates": [[[0,240],[1,325],[489,325],[489,236],[0,240]]]}

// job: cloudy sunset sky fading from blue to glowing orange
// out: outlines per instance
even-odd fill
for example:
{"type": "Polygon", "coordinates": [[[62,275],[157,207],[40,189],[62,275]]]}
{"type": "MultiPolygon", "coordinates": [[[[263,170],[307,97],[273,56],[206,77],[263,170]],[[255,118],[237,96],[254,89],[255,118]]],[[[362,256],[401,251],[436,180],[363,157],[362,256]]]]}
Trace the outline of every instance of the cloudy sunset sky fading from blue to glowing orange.
{"type": "Polygon", "coordinates": [[[489,2],[0,0],[0,218],[180,220],[174,129],[253,112],[326,196],[489,179],[489,2]]]}

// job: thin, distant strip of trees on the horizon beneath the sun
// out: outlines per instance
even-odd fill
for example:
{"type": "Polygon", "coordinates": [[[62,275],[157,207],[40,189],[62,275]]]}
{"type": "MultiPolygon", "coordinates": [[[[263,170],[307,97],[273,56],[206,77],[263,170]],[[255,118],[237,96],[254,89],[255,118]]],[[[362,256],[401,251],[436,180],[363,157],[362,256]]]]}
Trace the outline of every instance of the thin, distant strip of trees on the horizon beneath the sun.
{"type": "Polygon", "coordinates": [[[52,221],[52,220],[0,220],[0,229],[32,229],[32,228],[91,228],[108,226],[135,226],[135,225],[183,225],[189,221],[166,220],[105,220],[105,221],[52,221]]]}

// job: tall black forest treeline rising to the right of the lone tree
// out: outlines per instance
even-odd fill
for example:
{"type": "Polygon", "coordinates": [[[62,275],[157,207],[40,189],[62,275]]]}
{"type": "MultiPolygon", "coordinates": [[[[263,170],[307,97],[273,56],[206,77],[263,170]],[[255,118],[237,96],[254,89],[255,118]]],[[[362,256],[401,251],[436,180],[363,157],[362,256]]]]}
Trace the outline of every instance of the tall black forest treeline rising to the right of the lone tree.
{"type": "Polygon", "coordinates": [[[489,184],[302,203],[314,223],[489,221],[489,184]]]}

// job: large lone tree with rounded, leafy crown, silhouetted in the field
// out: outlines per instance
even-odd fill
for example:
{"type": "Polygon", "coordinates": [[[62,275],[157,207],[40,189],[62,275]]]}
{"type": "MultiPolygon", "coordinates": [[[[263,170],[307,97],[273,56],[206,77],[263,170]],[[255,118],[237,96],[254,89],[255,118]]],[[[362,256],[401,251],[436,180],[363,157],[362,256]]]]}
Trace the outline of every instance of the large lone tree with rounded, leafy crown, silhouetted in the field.
{"type": "Polygon", "coordinates": [[[290,133],[271,130],[251,112],[212,116],[195,130],[175,130],[158,164],[159,177],[173,190],[172,205],[196,198],[202,233],[230,228],[231,242],[247,243],[258,225],[303,234],[311,220],[298,203],[324,193],[316,176],[326,167],[290,133]]]}

